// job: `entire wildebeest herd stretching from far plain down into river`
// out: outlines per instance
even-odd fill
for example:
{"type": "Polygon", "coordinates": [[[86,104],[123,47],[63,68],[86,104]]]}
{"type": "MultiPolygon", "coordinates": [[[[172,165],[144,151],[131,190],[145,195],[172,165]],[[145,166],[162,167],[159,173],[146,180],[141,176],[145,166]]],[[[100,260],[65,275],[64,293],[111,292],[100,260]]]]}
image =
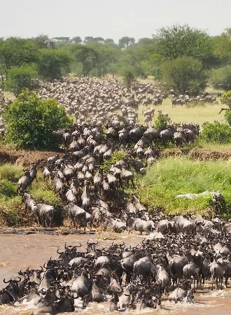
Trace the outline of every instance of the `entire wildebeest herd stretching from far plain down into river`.
{"type": "MultiPolygon", "coordinates": [[[[200,215],[167,216],[164,209],[147,209],[134,193],[126,193],[134,189],[134,176],[142,176],[155,165],[162,146],[170,141],[190,146],[199,134],[198,125],[172,124],[161,110],[159,116],[165,116],[167,125],[148,126],[154,106],[169,94],[175,95],[174,91],[162,93],[154,83],[136,83],[127,89],[117,80],[94,78],[41,86],[40,97],[55,97],[76,117],[76,125],[57,131],[63,153],[24,171],[17,192],[25,209],[44,227],[57,224],[61,216],[69,218],[73,228],[138,232],[145,238],[137,246],[117,242],[102,247],[92,241],[87,246],[65,244],[64,251],[58,250],[59,256],[41,269],[20,270],[19,279],[4,279],[7,286],[0,291],[0,304],[19,302],[29,304],[31,314],[57,314],[74,311],[79,303],[85,308],[90,302],[108,301],[108,311],[122,311],[158,308],[164,297],[193,302],[193,293],[209,279],[212,289],[214,281],[216,289],[218,282],[220,288],[223,281],[228,286],[230,223],[219,216],[211,220],[200,215]],[[149,106],[144,112],[146,125],[137,121],[142,103],[149,106]],[[120,158],[115,160],[116,156],[120,158]],[[34,200],[30,194],[41,167],[44,181],[59,198],[59,207],[34,200]]],[[[209,100],[208,96],[204,94],[209,100]]],[[[173,106],[186,104],[174,104],[174,99],[173,106]]],[[[177,99],[192,102],[188,93],[177,99]]]]}

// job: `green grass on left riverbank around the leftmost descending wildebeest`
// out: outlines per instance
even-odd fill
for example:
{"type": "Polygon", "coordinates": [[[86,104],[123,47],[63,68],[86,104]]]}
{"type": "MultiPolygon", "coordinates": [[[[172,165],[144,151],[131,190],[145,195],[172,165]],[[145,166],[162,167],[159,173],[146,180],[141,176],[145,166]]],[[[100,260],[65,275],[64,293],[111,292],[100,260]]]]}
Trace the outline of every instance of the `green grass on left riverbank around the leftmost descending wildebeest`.
{"type": "MultiPolygon", "coordinates": [[[[0,224],[9,226],[31,225],[28,211],[22,204],[22,197],[16,194],[18,180],[23,175],[22,167],[12,164],[0,166],[0,224]]],[[[49,183],[43,183],[43,176],[38,172],[38,182],[32,183],[30,191],[34,200],[57,206],[59,200],[49,183]]]]}

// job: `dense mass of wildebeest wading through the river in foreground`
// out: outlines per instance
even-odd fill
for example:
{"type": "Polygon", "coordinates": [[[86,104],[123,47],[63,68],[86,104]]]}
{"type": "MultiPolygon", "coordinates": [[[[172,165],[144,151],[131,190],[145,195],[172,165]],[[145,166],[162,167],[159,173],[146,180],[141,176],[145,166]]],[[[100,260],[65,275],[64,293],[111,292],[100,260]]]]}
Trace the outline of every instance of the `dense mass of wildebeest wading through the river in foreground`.
{"type": "Polygon", "coordinates": [[[65,244],[40,269],[3,279],[0,304],[23,305],[34,315],[71,312],[91,302],[107,302],[107,311],[132,311],[160,308],[163,299],[193,303],[204,284],[211,290],[214,284],[216,289],[229,287],[228,226],[218,218],[190,220],[175,216],[173,227],[162,219],[137,246],[123,241],[65,244]]]}

